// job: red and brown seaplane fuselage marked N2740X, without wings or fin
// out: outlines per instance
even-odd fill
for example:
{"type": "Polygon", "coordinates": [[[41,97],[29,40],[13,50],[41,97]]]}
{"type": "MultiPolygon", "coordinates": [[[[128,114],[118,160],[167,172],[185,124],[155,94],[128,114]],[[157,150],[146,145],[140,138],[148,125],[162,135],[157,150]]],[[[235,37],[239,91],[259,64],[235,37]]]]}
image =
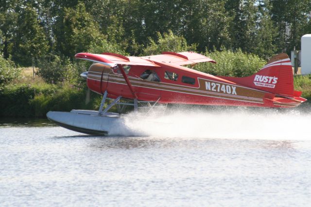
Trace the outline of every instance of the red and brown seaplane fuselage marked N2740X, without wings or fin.
{"type": "MultiPolygon", "coordinates": [[[[275,97],[272,93],[242,86],[193,69],[170,67],[168,63],[157,64],[160,67],[125,67],[138,100],[172,104],[260,107],[294,107],[300,104],[294,100],[272,101],[269,99],[275,97]],[[145,77],[148,75],[149,77],[145,77]],[[150,78],[151,75],[156,78],[150,78]]],[[[87,86],[99,94],[107,91],[110,98],[121,96],[134,99],[118,67],[111,69],[102,64],[93,64],[87,74],[87,86]]]]}

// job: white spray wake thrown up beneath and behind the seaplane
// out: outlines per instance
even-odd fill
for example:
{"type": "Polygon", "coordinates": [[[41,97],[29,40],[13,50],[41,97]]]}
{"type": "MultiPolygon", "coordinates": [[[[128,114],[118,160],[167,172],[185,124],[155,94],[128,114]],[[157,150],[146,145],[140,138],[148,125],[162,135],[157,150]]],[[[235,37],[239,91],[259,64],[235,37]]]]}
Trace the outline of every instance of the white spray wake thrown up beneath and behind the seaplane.
{"type": "Polygon", "coordinates": [[[212,109],[170,108],[149,116],[130,113],[109,135],[158,138],[311,138],[311,107],[262,109],[215,107],[212,109]]]}

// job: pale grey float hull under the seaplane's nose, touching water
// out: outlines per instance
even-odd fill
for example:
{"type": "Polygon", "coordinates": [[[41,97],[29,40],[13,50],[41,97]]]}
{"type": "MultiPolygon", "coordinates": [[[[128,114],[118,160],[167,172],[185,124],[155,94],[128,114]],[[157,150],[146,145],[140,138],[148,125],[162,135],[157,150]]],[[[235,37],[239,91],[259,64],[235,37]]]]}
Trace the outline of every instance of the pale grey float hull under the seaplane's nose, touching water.
{"type": "Polygon", "coordinates": [[[121,124],[117,113],[98,115],[98,111],[91,110],[49,111],[47,117],[59,126],[89,135],[108,135],[121,124]]]}

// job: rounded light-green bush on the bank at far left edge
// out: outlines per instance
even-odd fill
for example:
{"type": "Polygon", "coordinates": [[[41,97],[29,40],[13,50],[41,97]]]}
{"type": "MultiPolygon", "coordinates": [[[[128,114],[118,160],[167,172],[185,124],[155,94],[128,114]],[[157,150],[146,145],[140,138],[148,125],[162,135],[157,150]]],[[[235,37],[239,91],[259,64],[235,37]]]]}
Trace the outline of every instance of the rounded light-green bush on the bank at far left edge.
{"type": "Polygon", "coordinates": [[[20,77],[20,69],[15,67],[11,60],[6,60],[0,55],[0,88],[20,77]]]}

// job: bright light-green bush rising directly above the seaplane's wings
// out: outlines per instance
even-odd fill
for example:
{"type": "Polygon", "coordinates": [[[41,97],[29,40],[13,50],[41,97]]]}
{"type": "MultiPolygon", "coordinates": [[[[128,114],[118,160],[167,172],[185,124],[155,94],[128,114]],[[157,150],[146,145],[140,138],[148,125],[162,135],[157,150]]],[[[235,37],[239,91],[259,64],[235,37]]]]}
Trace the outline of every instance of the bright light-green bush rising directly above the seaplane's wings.
{"type": "Polygon", "coordinates": [[[144,49],[144,55],[161,54],[162,52],[183,52],[195,50],[195,45],[188,46],[183,36],[174,35],[171,30],[163,36],[157,33],[158,39],[155,42],[149,38],[149,46],[144,49]]]}

